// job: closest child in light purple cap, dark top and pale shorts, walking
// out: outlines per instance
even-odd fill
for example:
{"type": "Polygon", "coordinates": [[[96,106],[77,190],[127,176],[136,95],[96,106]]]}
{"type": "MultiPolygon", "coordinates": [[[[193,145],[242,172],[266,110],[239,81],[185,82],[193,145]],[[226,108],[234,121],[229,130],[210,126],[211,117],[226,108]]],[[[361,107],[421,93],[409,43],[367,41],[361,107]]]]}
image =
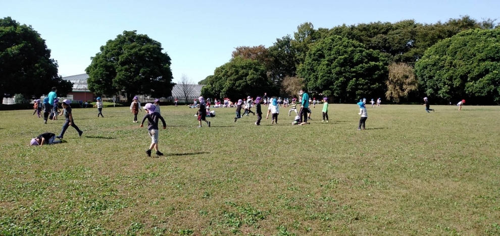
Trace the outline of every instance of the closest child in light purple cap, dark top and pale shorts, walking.
{"type": "Polygon", "coordinates": [[[160,113],[155,111],[155,105],[147,103],[143,108],[146,114],[142,118],[139,127],[142,128],[142,124],[144,124],[144,121],[147,119],[147,133],[151,137],[151,145],[149,145],[149,149],[146,150],[146,154],[151,157],[151,150],[154,148],[158,156],[163,156],[163,153],[158,150],[158,120],[162,121],[163,129],[165,130],[167,129],[165,119],[163,119],[160,113]]]}

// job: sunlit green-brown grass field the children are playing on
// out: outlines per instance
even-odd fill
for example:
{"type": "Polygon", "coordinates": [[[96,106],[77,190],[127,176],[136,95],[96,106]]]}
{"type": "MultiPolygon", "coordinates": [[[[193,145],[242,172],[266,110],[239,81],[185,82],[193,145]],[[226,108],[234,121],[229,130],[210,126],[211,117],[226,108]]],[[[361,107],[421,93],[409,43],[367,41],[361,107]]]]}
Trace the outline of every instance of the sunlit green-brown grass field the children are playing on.
{"type": "Polygon", "coordinates": [[[500,235],[500,108],[431,108],[368,108],[358,131],[356,105],[201,129],[162,106],[159,158],[128,107],[74,109],[82,137],[41,147],[62,120],[0,111],[0,235],[500,235]]]}

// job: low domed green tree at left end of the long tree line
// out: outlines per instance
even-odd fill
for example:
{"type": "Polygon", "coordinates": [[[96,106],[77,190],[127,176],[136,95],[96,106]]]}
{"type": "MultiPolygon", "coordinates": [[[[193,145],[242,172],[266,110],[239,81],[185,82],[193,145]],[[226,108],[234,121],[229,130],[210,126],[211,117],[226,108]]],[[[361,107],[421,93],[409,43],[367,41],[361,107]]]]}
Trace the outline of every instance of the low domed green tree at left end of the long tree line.
{"type": "Polygon", "coordinates": [[[267,77],[266,67],[259,61],[242,57],[218,67],[203,87],[202,95],[208,97],[229,97],[239,99],[245,96],[259,96],[264,92],[272,94],[276,86],[267,77]]]}

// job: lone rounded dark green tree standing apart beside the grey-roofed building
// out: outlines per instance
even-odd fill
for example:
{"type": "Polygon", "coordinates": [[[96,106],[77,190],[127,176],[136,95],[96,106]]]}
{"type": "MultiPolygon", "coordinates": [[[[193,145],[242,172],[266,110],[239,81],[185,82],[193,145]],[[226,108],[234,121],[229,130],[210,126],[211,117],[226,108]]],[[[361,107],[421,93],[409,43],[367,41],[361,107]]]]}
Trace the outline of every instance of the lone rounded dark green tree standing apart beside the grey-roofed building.
{"type": "Polygon", "coordinates": [[[104,95],[122,94],[131,101],[137,94],[168,97],[172,93],[170,56],[162,44],[145,34],[123,31],[108,40],[85,70],[88,88],[104,95]]]}

